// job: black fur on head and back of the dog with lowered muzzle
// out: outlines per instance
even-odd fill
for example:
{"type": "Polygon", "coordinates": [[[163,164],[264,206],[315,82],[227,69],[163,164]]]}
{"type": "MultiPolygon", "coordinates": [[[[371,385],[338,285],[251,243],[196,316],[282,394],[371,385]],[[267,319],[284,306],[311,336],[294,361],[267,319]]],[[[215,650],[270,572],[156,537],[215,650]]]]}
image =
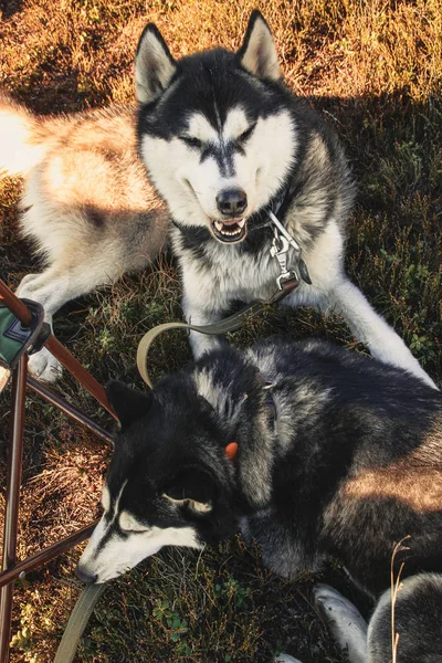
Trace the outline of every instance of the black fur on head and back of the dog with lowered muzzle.
{"type": "MultiPolygon", "coordinates": [[[[404,480],[411,473],[423,481],[425,469],[442,477],[440,393],[400,369],[322,343],[261,344],[252,359],[232,348],[203,356],[188,372],[161,380],[146,413],[138,407],[146,397],[125,394],[135,398],[139,415],[117,436],[109,483],[115,473],[120,481],[124,465],[126,477],[136,472],[137,517],[150,509],[148,494],[135,487],[137,482],[158,492],[183,470],[198,469],[206,474],[213,505],[212,513],[192,523],[200,538],[220,539],[244,516],[246,533],[280,573],[292,576],[334,555],[360,587],[378,596],[389,585],[394,544],[404,536],[411,537],[409,550],[397,556],[398,565],[406,560],[404,575],[442,571],[442,506],[420,513],[408,496],[346,493],[354,480],[389,467],[397,472],[398,464],[404,480]],[[262,466],[254,467],[264,444],[259,422],[265,415],[265,392],[259,368],[276,382],[272,393],[277,418],[276,438],[266,431],[270,451],[262,466]],[[198,394],[201,373],[210,376],[210,387],[198,394]],[[283,422],[292,434],[282,441],[283,422]],[[223,452],[231,441],[239,444],[233,463],[223,452]],[[266,464],[271,486],[257,504],[243,477],[265,477],[266,464]]],[[[120,393],[110,390],[109,396],[120,412],[120,393]]],[[[127,421],[128,402],[124,411],[127,421]]],[[[188,482],[186,486],[187,496],[188,482]]],[[[188,523],[189,513],[185,517],[188,523]]]]}

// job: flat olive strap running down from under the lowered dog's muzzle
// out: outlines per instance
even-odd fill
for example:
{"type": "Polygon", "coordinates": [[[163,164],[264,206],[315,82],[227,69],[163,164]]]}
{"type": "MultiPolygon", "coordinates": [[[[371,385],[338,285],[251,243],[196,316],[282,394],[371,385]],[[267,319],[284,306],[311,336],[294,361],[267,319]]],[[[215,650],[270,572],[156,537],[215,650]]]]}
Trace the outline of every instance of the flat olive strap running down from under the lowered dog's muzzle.
{"type": "Polygon", "coordinates": [[[80,639],[106,585],[86,585],[71,613],[54,663],[72,663],[80,639]]]}

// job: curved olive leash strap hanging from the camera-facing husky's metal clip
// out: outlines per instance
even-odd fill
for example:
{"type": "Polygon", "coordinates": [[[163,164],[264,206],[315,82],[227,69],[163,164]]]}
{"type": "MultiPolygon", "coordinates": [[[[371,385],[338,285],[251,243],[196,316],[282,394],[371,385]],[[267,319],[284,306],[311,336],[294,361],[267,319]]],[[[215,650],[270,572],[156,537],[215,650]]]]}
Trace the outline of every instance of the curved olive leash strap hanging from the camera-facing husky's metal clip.
{"type": "Polygon", "coordinates": [[[280,302],[298,285],[299,282],[296,277],[285,281],[281,284],[281,290],[276,291],[276,293],[270,299],[256,299],[255,302],[252,302],[251,304],[248,304],[241,308],[238,313],[234,313],[233,315],[230,315],[229,317],[212,325],[191,325],[188,323],[164,323],[162,325],[157,325],[144,335],[138,345],[137,367],[141,378],[151,389],[152,383],[149,378],[149,373],[147,372],[147,355],[151,344],[159,334],[162,334],[162,332],[168,332],[169,329],[189,329],[192,332],[199,332],[200,334],[209,335],[234,332],[245,324],[245,319],[251,313],[260,313],[263,311],[263,308],[265,308],[266,305],[280,302]]]}

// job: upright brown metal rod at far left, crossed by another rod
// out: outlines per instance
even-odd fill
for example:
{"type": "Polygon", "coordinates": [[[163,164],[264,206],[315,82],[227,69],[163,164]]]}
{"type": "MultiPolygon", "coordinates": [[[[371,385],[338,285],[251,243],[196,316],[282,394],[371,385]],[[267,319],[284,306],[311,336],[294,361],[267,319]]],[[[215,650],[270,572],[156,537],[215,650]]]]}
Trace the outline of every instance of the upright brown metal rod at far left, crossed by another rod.
{"type": "MultiPolygon", "coordinates": [[[[7,493],[4,505],[4,534],[2,569],[15,562],[17,530],[23,454],[24,399],[27,394],[28,356],[21,357],[12,378],[12,412],[9,432],[7,493]]],[[[0,593],[0,663],[7,663],[11,632],[12,585],[0,593]]]]}

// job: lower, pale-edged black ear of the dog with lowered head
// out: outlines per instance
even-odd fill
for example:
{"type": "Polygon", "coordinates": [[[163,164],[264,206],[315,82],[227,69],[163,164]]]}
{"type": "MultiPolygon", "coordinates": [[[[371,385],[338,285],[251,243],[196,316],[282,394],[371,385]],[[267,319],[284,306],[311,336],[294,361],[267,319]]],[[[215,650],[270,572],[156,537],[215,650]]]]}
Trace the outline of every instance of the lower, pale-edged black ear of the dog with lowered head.
{"type": "Polygon", "coordinates": [[[213,508],[215,487],[211,476],[201,470],[181,470],[164,492],[164,497],[177,506],[188,506],[198,514],[213,508]]]}

